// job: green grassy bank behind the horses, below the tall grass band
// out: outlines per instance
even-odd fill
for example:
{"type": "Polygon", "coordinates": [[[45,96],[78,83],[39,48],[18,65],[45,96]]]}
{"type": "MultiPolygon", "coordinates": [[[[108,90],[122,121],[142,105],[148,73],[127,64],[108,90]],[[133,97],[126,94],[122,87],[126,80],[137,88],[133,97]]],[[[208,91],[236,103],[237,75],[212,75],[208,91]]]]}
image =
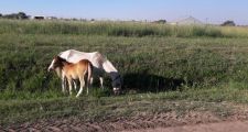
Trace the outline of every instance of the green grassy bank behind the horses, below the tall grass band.
{"type": "MultiPolygon", "coordinates": [[[[116,37],[64,34],[0,35],[0,89],[31,92],[58,89],[46,69],[61,51],[99,51],[123,76],[123,88],[138,91],[181,85],[213,86],[248,79],[248,38],[116,37]],[[14,38],[12,38],[14,37],[14,38]]],[[[110,87],[109,78],[106,87],[110,87]]]]}

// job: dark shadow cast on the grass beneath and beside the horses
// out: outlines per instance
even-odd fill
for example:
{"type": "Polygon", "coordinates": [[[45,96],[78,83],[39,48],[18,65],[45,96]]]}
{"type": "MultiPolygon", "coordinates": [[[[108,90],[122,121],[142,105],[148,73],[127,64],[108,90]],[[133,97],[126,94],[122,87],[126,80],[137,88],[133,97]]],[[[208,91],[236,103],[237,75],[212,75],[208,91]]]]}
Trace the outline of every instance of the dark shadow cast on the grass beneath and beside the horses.
{"type": "MultiPolygon", "coordinates": [[[[147,73],[130,73],[122,75],[123,85],[122,94],[142,94],[142,92],[161,92],[170,90],[182,90],[182,86],[186,84],[182,78],[165,78],[163,76],[150,75],[147,73]]],[[[77,82],[78,85],[79,82],[77,82]]],[[[93,81],[89,88],[89,95],[94,97],[109,97],[114,96],[111,79],[106,76],[104,81],[104,89],[99,88],[98,78],[93,81]]],[[[79,87],[77,87],[79,88],[79,87]]],[[[83,94],[84,95],[84,94],[83,94]]]]}

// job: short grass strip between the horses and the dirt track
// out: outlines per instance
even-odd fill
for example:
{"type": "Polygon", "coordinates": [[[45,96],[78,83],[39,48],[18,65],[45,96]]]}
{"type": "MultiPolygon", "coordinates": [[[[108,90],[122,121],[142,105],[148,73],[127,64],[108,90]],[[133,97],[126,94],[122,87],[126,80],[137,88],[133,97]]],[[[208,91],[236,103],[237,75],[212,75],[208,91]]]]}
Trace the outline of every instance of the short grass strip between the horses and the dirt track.
{"type": "Polygon", "coordinates": [[[229,102],[248,102],[247,90],[230,88],[188,89],[159,94],[138,94],[118,97],[60,97],[52,99],[26,99],[0,101],[2,125],[41,119],[74,118],[84,121],[104,121],[140,113],[187,111],[212,112],[217,117],[231,116],[235,110],[229,102]]]}

